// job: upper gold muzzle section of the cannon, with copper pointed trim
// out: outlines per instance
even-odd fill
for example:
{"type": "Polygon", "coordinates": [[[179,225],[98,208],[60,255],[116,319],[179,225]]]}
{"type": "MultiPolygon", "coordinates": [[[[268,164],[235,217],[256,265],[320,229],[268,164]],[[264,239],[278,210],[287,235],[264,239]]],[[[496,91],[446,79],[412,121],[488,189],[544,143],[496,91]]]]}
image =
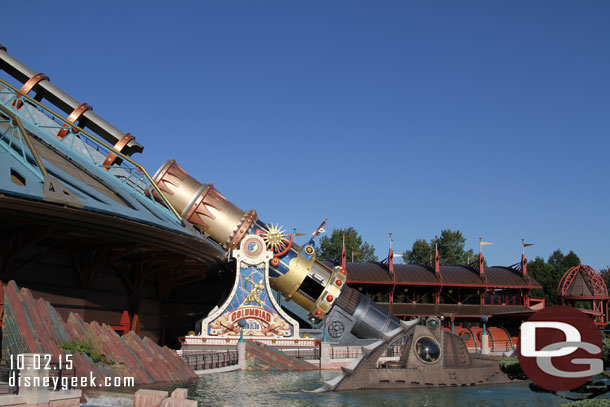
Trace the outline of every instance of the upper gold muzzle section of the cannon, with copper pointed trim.
{"type": "Polygon", "coordinates": [[[184,219],[225,249],[235,248],[256,222],[256,211],[242,211],[214,185],[191,177],[176,160],[166,161],[153,179],[184,219]]]}

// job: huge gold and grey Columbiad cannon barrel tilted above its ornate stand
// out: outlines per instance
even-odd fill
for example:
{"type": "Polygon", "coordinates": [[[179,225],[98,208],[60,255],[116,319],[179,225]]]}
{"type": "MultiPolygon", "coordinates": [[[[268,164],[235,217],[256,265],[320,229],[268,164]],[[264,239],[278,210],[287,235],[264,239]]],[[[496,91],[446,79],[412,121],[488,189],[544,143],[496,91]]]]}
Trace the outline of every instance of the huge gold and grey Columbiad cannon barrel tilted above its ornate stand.
{"type": "Polygon", "coordinates": [[[261,236],[273,249],[271,288],[307,310],[311,320],[326,318],[331,342],[367,342],[400,326],[389,311],[346,286],[346,270],[341,266],[331,269],[318,261],[312,244],[297,245],[292,235],[262,222],[255,210],[238,208],[213,184],[200,183],[175,160],[163,164],[153,179],[185,220],[225,250],[237,248],[248,235],[261,236]]]}

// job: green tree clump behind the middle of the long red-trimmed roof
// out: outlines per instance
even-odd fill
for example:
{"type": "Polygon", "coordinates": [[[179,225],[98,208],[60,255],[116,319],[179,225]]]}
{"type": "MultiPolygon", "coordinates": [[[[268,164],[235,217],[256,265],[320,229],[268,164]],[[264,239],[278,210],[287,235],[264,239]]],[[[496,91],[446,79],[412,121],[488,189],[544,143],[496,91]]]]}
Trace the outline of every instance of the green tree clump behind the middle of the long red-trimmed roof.
{"type": "Polygon", "coordinates": [[[438,240],[430,239],[430,242],[424,239],[416,240],[411,250],[406,250],[402,255],[405,263],[429,263],[430,255],[433,255],[437,244],[441,264],[468,264],[469,258],[470,261],[475,258],[472,249],[464,249],[466,238],[462,232],[444,229],[438,240]]]}

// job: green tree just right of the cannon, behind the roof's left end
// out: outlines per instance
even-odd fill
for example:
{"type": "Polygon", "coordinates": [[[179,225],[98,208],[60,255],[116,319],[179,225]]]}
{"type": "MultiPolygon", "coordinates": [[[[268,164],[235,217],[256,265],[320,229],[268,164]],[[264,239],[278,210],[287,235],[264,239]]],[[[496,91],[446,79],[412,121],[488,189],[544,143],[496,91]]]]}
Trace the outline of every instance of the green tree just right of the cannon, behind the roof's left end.
{"type": "Polygon", "coordinates": [[[356,263],[377,261],[375,247],[364,242],[358,231],[351,226],[347,229],[333,229],[330,236],[323,236],[320,239],[320,247],[317,251],[320,260],[332,261],[341,259],[343,234],[345,234],[345,248],[348,261],[352,260],[352,252],[354,254],[354,262],[356,263]]]}

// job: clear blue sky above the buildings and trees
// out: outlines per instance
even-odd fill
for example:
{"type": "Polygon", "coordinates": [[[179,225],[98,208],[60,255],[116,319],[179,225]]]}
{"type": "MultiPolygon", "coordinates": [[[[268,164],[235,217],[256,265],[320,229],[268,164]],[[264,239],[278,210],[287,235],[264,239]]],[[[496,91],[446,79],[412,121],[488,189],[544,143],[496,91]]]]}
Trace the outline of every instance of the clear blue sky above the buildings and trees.
{"type": "MultiPolygon", "coordinates": [[[[610,3],[3,2],[0,43],[242,209],[610,264],[610,3]],[[57,4],[56,4],[57,3],[57,4]],[[178,4],[178,5],[176,5],[178,4]]],[[[6,78],[6,74],[0,74],[6,78]]],[[[303,239],[303,238],[301,238],[303,239]]]]}

